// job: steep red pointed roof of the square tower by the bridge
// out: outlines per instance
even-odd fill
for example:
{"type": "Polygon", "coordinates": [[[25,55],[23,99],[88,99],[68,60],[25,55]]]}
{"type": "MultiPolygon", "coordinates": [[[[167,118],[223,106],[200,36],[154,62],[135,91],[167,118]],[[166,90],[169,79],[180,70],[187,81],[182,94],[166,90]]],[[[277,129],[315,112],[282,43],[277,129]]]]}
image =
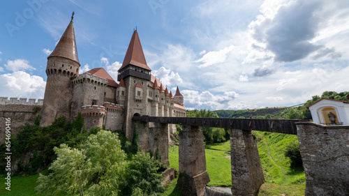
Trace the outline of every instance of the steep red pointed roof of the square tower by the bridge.
{"type": "Polygon", "coordinates": [[[137,30],[133,31],[133,35],[130,44],[128,45],[124,62],[122,63],[122,66],[121,68],[119,68],[119,70],[128,66],[129,64],[133,66],[138,66],[140,68],[144,68],[146,70],[151,70],[147,66],[147,61],[145,61],[142,45],[140,45],[140,38],[138,37],[137,30]]]}

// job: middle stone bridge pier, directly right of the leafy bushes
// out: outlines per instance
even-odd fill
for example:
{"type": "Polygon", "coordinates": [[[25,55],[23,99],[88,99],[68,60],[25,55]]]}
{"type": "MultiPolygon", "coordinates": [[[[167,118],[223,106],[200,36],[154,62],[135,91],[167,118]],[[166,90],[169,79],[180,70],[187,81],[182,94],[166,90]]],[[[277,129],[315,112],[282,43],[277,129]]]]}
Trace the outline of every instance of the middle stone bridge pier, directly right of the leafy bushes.
{"type": "Polygon", "coordinates": [[[183,126],[179,132],[179,179],[183,195],[202,196],[209,183],[204,136],[199,126],[183,126]]]}

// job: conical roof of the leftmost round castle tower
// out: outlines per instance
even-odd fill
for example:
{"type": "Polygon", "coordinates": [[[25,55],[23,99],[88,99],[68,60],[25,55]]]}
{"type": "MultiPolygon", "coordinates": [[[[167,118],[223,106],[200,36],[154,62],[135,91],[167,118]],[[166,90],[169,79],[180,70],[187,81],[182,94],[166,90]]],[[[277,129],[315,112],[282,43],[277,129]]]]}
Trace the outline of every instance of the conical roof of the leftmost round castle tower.
{"type": "Polygon", "coordinates": [[[68,24],[68,27],[66,28],[66,31],[64,31],[63,35],[61,36],[61,39],[57,43],[50,56],[47,57],[47,59],[53,56],[64,57],[66,59],[70,59],[79,63],[80,66],[79,58],[77,58],[73,15],[71,17],[70,23],[68,24]]]}

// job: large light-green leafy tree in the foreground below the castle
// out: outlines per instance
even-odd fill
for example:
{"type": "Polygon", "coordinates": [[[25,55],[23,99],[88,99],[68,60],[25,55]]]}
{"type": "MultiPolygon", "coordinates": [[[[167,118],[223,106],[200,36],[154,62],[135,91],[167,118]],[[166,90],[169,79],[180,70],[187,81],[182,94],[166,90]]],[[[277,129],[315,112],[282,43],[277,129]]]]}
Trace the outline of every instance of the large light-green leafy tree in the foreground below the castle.
{"type": "Polygon", "coordinates": [[[124,183],[126,154],[120,140],[110,131],[100,130],[90,135],[82,149],[67,144],[54,147],[57,159],[47,176],[40,174],[36,191],[57,195],[63,191],[75,195],[117,195],[124,183]]]}

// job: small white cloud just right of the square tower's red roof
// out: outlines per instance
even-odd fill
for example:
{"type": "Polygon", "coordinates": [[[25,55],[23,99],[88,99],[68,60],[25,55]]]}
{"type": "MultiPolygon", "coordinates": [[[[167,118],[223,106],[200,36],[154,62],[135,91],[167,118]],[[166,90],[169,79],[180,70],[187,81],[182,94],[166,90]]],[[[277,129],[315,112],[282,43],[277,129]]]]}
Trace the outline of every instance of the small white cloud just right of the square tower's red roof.
{"type": "Polygon", "coordinates": [[[159,70],[154,70],[152,74],[161,81],[164,86],[178,86],[183,82],[178,73],[161,67],[159,70]]]}

